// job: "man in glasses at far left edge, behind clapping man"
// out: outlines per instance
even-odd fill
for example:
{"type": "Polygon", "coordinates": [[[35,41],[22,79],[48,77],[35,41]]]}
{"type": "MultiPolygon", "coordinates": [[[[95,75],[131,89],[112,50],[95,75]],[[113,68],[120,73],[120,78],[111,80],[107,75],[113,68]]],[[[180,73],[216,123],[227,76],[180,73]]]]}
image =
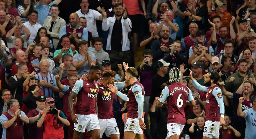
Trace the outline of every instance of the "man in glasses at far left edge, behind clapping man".
{"type": "MultiPolygon", "coordinates": [[[[2,93],[1,93],[1,97],[2,97],[3,100],[0,103],[0,114],[2,115],[3,113],[8,111],[7,103],[12,98],[11,91],[8,90],[8,89],[3,90],[2,93]]],[[[2,137],[2,133],[3,133],[3,126],[0,126],[0,136],[1,137],[2,137]]]]}

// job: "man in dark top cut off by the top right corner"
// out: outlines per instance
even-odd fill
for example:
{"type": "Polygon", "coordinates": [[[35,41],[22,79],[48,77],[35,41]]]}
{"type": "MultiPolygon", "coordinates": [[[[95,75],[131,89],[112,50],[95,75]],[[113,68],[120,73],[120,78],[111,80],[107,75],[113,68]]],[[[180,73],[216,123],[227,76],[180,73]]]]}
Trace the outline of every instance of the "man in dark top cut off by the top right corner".
{"type": "MultiPolygon", "coordinates": [[[[238,21],[241,18],[244,18],[246,16],[247,9],[248,9],[249,13],[255,13],[256,12],[255,0],[246,0],[244,3],[245,3],[245,6],[239,10],[239,13],[237,14],[237,17],[236,17],[235,25],[237,27],[237,30],[239,30],[238,21]]],[[[248,17],[250,18],[250,16],[248,16],[248,17]]]]}

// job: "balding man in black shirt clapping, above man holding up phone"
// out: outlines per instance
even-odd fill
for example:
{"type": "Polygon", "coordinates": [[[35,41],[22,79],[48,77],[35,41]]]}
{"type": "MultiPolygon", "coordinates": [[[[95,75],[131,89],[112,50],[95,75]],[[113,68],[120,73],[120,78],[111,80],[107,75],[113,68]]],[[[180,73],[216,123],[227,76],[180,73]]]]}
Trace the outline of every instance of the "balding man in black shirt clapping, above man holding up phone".
{"type": "Polygon", "coordinates": [[[140,43],[140,47],[145,46],[145,49],[150,49],[153,41],[159,38],[157,23],[151,23],[149,25],[150,35],[143,37],[143,41],[140,43]]]}

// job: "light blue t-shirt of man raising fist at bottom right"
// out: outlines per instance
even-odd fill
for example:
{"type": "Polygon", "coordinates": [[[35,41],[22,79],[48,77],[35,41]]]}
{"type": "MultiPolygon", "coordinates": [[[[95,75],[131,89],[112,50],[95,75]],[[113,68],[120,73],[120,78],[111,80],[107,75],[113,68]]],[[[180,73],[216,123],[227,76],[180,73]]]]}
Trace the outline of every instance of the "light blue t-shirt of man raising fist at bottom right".
{"type": "Polygon", "coordinates": [[[243,111],[245,113],[245,139],[256,138],[256,111],[253,108],[243,111]]]}

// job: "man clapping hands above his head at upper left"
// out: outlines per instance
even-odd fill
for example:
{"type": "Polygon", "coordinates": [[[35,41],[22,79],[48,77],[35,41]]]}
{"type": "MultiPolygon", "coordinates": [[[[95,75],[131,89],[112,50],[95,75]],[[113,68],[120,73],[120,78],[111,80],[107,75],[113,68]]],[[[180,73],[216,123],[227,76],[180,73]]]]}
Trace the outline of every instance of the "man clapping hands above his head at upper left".
{"type": "Polygon", "coordinates": [[[6,42],[7,42],[8,48],[14,48],[14,40],[17,37],[21,37],[25,41],[23,44],[23,47],[27,48],[27,41],[29,40],[29,37],[30,37],[30,31],[26,26],[22,25],[21,19],[19,16],[16,17],[16,20],[17,22],[14,25],[14,27],[6,34],[6,42]],[[24,35],[21,34],[22,29],[25,32],[24,35]]]}

